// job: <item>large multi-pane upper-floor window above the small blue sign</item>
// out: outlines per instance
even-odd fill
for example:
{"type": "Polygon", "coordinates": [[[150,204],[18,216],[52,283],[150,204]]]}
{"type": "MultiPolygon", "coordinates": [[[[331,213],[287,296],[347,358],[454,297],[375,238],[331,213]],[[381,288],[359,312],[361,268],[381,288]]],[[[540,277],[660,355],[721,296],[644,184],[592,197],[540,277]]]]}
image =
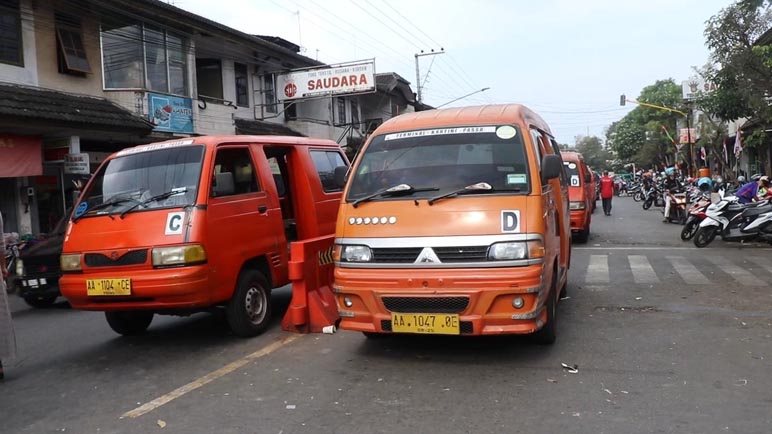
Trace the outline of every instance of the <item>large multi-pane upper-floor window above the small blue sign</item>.
{"type": "Polygon", "coordinates": [[[148,89],[188,95],[182,37],[142,23],[102,23],[105,89],[148,89]]]}

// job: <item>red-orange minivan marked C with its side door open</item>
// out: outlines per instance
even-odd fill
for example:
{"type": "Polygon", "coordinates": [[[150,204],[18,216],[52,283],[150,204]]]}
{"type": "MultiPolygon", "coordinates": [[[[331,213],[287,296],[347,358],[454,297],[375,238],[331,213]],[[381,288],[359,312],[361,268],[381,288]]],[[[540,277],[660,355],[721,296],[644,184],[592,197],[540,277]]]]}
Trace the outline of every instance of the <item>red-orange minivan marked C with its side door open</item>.
{"type": "Polygon", "coordinates": [[[153,315],[224,310],[240,336],[262,332],[271,288],[288,279],[288,243],[334,232],[341,198],[329,140],[210,136],[111,155],[65,233],[60,287],[113,330],[153,315]]]}

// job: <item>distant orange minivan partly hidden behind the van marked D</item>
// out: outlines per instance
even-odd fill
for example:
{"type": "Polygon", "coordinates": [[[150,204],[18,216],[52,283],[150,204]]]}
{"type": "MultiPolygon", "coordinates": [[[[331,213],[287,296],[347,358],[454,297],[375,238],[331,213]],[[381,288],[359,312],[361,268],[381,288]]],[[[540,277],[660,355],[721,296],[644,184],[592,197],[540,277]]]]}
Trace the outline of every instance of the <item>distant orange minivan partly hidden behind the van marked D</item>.
{"type": "Polygon", "coordinates": [[[571,210],[571,232],[576,240],[586,243],[590,238],[593,205],[595,204],[595,186],[592,171],[585,164],[582,154],[562,151],[563,165],[568,176],[568,200],[571,210]]]}

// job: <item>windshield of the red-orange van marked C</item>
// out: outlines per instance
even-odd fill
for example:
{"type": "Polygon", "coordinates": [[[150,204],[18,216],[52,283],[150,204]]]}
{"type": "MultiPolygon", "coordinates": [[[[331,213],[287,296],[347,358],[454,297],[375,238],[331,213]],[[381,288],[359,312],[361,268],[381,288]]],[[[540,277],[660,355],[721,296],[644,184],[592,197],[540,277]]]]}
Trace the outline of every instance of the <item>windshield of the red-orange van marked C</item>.
{"type": "Polygon", "coordinates": [[[193,205],[201,176],[203,146],[186,146],[114,158],[94,174],[75,218],[193,205]],[[164,195],[169,192],[179,194],[164,195]],[[148,201],[153,197],[162,197],[148,201]],[[84,205],[85,204],[85,205],[84,205]]]}

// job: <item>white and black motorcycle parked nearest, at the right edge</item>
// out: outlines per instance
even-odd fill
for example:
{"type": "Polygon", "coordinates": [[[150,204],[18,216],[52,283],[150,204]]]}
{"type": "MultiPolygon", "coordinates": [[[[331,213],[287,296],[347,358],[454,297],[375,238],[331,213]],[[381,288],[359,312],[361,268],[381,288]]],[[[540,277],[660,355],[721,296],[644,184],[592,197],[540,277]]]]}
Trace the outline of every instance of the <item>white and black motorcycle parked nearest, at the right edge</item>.
{"type": "Polygon", "coordinates": [[[710,205],[705,220],[694,235],[694,245],[705,247],[718,234],[724,241],[758,239],[772,244],[772,203],[765,200],[742,205],[724,198],[710,205]]]}

